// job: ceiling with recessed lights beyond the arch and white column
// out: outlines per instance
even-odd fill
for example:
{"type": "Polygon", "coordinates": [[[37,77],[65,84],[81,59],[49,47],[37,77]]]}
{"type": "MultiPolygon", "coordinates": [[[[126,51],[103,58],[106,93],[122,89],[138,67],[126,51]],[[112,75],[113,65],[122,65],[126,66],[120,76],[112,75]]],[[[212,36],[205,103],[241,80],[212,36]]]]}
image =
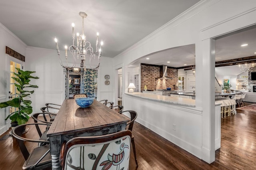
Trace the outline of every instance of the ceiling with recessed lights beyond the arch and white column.
{"type": "MultiPolygon", "coordinates": [[[[245,31],[235,34],[228,34],[216,38],[215,41],[215,61],[224,61],[242,57],[250,57],[256,55],[256,28],[255,26],[247,28],[245,31]],[[247,43],[247,46],[241,47],[247,43]]],[[[186,65],[195,65],[195,44],[174,47],[163,51],[158,51],[150,55],[141,57],[131,66],[138,66],[139,63],[168,65],[170,67],[184,67],[186,65]],[[148,58],[148,59],[146,59],[148,58]],[[170,63],[167,63],[170,61],[170,63]]],[[[216,67],[218,70],[228,68],[230,75],[238,75],[242,73],[240,69],[235,69],[237,66],[228,66],[224,68],[216,67]],[[234,70],[233,70],[234,68],[234,70]],[[233,70],[233,71],[232,71],[233,70]]],[[[228,71],[217,71],[219,74],[227,73],[228,71]]]]}

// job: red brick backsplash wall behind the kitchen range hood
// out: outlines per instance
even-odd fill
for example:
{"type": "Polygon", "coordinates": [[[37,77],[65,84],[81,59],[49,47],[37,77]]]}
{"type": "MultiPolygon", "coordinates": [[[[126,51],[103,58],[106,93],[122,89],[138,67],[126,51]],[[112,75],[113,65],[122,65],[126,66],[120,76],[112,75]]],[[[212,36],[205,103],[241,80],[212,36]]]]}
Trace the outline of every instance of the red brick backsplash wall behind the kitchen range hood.
{"type": "Polygon", "coordinates": [[[148,90],[155,90],[155,89],[166,89],[167,87],[171,87],[172,90],[176,89],[174,88],[174,85],[176,86],[176,83],[178,81],[178,69],[173,68],[167,68],[167,76],[172,77],[172,80],[155,80],[156,77],[160,76],[160,67],[157,65],[144,65],[141,63],[140,65],[140,75],[141,75],[141,90],[144,89],[144,86],[146,85],[148,90]]]}

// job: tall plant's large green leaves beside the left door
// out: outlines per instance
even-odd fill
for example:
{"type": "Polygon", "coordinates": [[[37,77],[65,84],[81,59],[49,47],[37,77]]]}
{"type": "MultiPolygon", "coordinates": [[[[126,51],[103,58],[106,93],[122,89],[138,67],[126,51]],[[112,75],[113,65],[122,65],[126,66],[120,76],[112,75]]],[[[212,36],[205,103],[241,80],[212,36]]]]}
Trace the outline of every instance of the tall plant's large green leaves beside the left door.
{"type": "Polygon", "coordinates": [[[29,97],[30,94],[34,93],[34,91],[27,91],[25,89],[30,87],[38,88],[37,85],[31,85],[29,82],[30,79],[39,78],[30,75],[36,71],[23,71],[19,68],[15,69],[18,71],[18,73],[14,73],[16,77],[12,77],[12,79],[16,81],[14,85],[17,87],[17,91],[19,92],[17,93],[18,96],[14,97],[10,101],[0,103],[0,108],[8,106],[18,108],[17,111],[10,113],[10,115],[8,115],[5,120],[10,118],[12,121],[11,124],[22,125],[28,122],[28,115],[32,113],[32,102],[30,100],[25,100],[24,98],[29,97]]]}

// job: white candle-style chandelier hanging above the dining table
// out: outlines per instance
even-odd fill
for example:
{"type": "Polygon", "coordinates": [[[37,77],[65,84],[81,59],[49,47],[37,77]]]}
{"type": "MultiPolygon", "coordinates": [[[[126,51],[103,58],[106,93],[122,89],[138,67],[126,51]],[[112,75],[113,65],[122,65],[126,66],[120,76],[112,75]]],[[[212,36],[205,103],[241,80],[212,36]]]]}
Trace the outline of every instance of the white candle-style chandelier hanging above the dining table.
{"type": "Polygon", "coordinates": [[[82,17],[82,34],[77,33],[76,38],[75,38],[75,33],[74,33],[75,24],[72,23],[73,44],[70,45],[69,48],[68,48],[67,45],[65,45],[65,61],[62,61],[62,59],[60,57],[60,49],[58,47],[58,40],[57,40],[57,38],[54,38],[54,41],[56,43],[56,49],[57,49],[58,57],[60,59],[60,65],[68,71],[72,70],[72,69],[74,69],[74,67],[76,67],[76,56],[77,56],[77,59],[79,59],[79,56],[80,56],[80,58],[81,58],[80,67],[83,70],[83,69],[85,69],[86,55],[90,55],[90,60],[89,60],[90,67],[91,67],[91,69],[97,70],[100,66],[100,57],[101,57],[101,53],[102,53],[103,42],[100,43],[101,44],[100,49],[98,49],[99,33],[97,32],[96,48],[95,49],[92,48],[91,43],[86,41],[86,36],[84,35],[84,18],[86,18],[87,14],[85,12],[79,12],[79,15],[82,17]],[[71,66],[68,66],[68,52],[67,52],[67,49],[69,49],[69,52],[72,55],[73,63],[72,63],[71,66]],[[98,56],[96,56],[96,54],[98,56]],[[94,60],[94,59],[98,60],[98,65],[93,68],[92,64],[91,64],[91,61],[94,60]]]}

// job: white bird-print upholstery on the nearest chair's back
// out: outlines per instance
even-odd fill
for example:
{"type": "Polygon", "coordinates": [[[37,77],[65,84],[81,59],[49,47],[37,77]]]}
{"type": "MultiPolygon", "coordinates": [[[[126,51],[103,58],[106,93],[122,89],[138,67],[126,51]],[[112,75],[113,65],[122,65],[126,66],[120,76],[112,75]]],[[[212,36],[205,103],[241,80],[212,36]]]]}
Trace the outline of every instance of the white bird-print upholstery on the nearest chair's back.
{"type": "Polygon", "coordinates": [[[130,136],[97,144],[78,144],[67,152],[65,170],[128,170],[130,136]]]}

